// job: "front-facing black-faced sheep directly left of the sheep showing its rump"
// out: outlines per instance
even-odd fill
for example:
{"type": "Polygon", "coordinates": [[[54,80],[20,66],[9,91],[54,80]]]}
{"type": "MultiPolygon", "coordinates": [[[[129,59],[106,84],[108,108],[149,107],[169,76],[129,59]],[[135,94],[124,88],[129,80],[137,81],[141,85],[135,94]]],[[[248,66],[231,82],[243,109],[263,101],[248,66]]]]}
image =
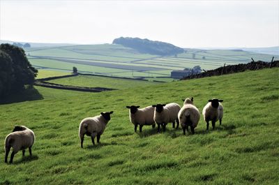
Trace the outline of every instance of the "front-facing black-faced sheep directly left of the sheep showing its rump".
{"type": "Polygon", "coordinates": [[[154,121],[158,125],[157,132],[160,132],[160,125],[163,127],[165,132],[165,127],[168,123],[172,122],[172,128],[175,127],[175,121],[177,123],[176,128],[179,128],[179,119],[177,117],[180,106],[177,103],[168,103],[152,105],[153,108],[156,108],[154,111],[154,121]]]}

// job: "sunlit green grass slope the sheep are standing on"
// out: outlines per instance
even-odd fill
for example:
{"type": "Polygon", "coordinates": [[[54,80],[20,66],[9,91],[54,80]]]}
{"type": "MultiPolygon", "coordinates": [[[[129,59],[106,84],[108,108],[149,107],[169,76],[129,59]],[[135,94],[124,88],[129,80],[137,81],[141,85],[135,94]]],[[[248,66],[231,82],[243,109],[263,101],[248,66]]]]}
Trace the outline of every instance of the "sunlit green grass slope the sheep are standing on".
{"type": "MultiPolygon", "coordinates": [[[[33,129],[33,157],[3,163],[0,184],[278,184],[279,69],[170,82],[102,93],[36,87],[43,99],[0,105],[0,140],[15,124],[33,129]],[[193,96],[202,111],[209,98],[223,98],[223,125],[206,133],[165,133],[144,126],[134,133],[126,105],[176,102],[193,96]],[[114,111],[93,147],[80,148],[84,117],[114,111]]],[[[27,152],[28,153],[28,152],[27,152]]]]}

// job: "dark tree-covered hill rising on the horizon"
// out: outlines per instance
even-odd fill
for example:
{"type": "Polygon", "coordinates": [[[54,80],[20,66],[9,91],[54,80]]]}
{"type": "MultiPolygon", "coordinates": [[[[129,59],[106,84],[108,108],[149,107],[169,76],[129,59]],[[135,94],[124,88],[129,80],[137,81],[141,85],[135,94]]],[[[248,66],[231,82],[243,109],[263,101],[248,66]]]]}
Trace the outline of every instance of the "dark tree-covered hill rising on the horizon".
{"type": "Polygon", "coordinates": [[[181,47],[177,47],[170,43],[164,43],[160,41],[153,41],[149,39],[141,38],[116,38],[112,42],[113,44],[123,45],[125,47],[131,47],[141,53],[158,54],[161,56],[174,55],[183,53],[184,50],[181,47]]]}

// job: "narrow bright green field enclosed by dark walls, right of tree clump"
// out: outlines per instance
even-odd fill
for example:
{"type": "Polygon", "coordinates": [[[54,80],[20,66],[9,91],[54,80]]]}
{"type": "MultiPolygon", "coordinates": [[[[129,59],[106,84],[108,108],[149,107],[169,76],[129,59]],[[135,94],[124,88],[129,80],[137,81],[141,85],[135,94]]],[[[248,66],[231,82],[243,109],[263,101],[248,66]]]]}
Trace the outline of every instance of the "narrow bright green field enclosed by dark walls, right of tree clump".
{"type": "Polygon", "coordinates": [[[152,84],[158,84],[158,82],[149,82],[143,80],[128,80],[114,77],[98,77],[86,75],[49,80],[47,82],[80,87],[106,87],[112,89],[129,89],[133,87],[145,87],[152,84]]]}

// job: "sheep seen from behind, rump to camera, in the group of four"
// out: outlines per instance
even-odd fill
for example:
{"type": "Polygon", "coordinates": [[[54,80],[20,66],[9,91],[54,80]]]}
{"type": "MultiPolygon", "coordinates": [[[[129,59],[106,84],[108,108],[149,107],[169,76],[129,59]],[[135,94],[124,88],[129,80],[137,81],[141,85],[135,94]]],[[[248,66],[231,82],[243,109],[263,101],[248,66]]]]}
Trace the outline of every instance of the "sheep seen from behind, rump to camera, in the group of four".
{"type": "Polygon", "coordinates": [[[191,131],[195,134],[194,128],[199,123],[199,110],[193,105],[194,98],[186,98],[184,101],[184,105],[179,111],[179,123],[183,129],[183,135],[186,135],[186,130],[188,131],[188,127],[190,126],[191,131]]]}

